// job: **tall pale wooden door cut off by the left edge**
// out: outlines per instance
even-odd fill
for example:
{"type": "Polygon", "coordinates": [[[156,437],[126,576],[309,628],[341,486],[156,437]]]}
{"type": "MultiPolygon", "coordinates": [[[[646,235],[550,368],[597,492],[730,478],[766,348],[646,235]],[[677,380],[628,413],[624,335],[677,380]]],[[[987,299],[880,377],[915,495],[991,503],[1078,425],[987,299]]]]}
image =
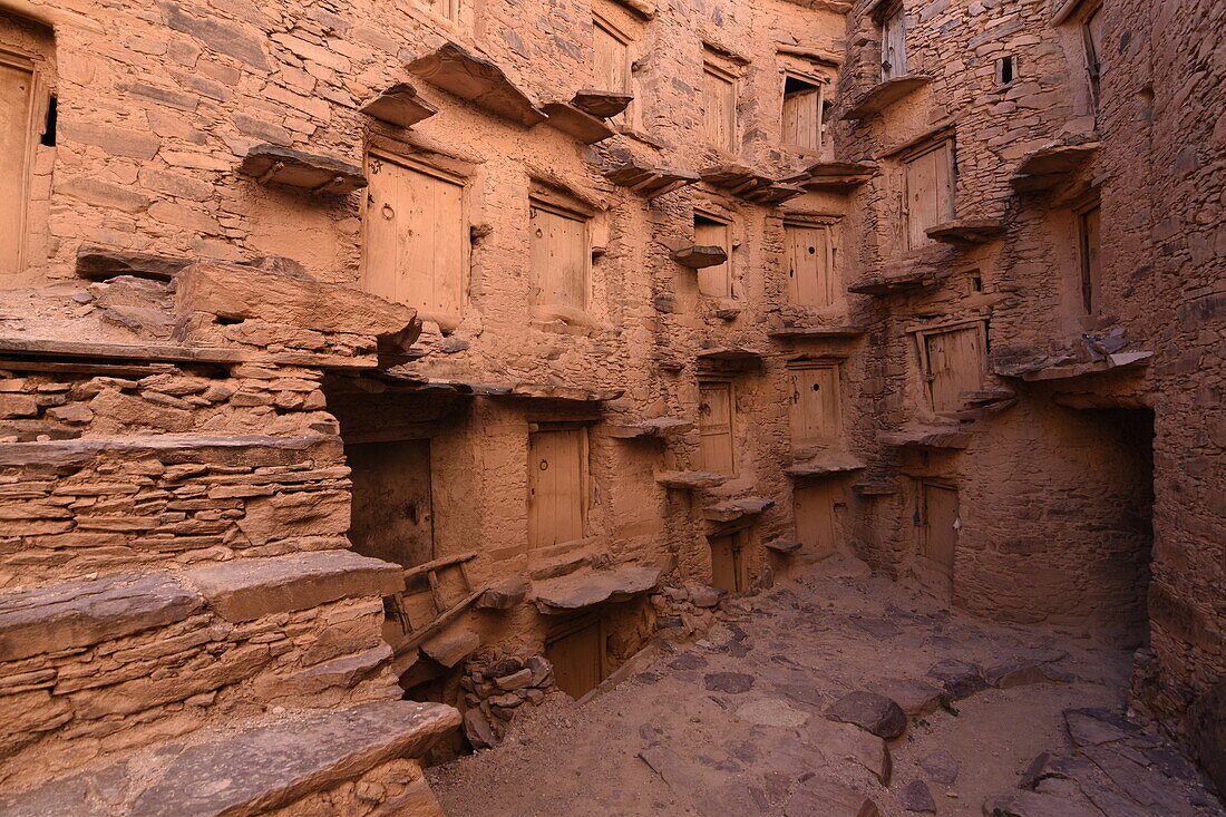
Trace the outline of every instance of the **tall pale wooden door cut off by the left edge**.
{"type": "Polygon", "coordinates": [[[0,61],[0,275],[22,271],[34,72],[0,61]]]}

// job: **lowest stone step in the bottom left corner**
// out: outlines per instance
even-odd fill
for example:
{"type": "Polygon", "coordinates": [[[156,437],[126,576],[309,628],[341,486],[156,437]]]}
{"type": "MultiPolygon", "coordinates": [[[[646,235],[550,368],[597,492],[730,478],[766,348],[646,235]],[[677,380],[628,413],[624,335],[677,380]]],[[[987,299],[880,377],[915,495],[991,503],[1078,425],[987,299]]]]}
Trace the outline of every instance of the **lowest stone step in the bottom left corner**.
{"type": "Polygon", "coordinates": [[[303,813],[365,813],[381,804],[380,813],[441,817],[413,758],[459,724],[451,707],[409,700],[288,710],[0,794],[0,813],[208,817],[295,804],[303,813]]]}

